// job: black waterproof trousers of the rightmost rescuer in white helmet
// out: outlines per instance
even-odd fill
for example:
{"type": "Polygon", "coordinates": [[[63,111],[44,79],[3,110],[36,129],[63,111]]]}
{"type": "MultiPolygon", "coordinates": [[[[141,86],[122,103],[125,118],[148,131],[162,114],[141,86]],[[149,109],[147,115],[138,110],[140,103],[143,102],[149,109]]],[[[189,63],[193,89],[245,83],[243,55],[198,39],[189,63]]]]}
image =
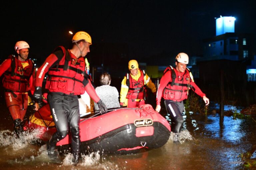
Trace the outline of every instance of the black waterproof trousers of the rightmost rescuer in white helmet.
{"type": "Polygon", "coordinates": [[[172,132],[179,133],[184,122],[182,112],[184,110],[183,101],[164,100],[167,112],[171,115],[172,132]]]}

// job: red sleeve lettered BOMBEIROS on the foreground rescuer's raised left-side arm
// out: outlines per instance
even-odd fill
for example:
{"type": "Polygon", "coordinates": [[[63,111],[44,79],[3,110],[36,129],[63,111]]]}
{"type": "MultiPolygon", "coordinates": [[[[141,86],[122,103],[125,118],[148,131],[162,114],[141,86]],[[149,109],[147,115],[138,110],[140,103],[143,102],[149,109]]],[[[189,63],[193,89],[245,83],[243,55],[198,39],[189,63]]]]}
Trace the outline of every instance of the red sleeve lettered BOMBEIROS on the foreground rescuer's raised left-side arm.
{"type": "Polygon", "coordinates": [[[43,80],[45,74],[49,71],[49,68],[58,60],[58,58],[54,54],[50,54],[43,63],[43,65],[38,68],[36,72],[36,80],[35,80],[35,86],[42,87],[43,80]]]}

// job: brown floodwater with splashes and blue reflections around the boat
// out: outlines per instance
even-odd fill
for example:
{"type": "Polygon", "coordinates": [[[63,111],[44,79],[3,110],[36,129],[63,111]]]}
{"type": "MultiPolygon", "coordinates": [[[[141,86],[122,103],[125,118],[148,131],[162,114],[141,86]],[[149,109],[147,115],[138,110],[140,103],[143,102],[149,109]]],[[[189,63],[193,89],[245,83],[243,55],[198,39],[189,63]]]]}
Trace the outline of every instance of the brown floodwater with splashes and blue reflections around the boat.
{"type": "MultiPolygon", "coordinates": [[[[241,170],[246,168],[239,155],[256,149],[255,117],[235,120],[232,116],[220,118],[218,113],[184,113],[179,143],[173,143],[171,133],[161,148],[131,155],[82,155],[84,160],[74,166],[71,154],[51,160],[45,145],[33,145],[37,132],[24,134],[25,142],[15,139],[11,116],[4,104],[0,106],[1,170],[241,170]]],[[[169,115],[162,114],[170,120],[169,115]]]]}

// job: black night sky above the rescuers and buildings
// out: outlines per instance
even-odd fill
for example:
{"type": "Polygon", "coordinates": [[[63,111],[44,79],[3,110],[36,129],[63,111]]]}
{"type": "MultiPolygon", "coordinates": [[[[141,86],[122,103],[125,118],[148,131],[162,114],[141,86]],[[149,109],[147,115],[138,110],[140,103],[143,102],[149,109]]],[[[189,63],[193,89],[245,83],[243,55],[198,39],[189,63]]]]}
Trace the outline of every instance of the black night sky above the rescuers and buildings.
{"type": "MultiPolygon", "coordinates": [[[[69,46],[71,30],[92,37],[90,57],[102,44],[115,52],[125,46],[130,59],[150,60],[179,52],[202,56],[202,40],[215,36],[215,17],[234,16],[235,32],[254,33],[255,2],[93,0],[5,1],[1,5],[1,59],[13,54],[17,41],[30,45],[30,57],[46,58],[58,45],[69,46]],[[95,46],[95,48],[93,48],[95,46]],[[97,48],[96,48],[97,47],[97,48]]],[[[121,54],[120,50],[117,55],[121,54]]],[[[147,62],[147,61],[144,61],[147,62]]],[[[93,64],[93,63],[92,63],[93,64]]],[[[127,63],[125,64],[127,65],[127,63]]]]}

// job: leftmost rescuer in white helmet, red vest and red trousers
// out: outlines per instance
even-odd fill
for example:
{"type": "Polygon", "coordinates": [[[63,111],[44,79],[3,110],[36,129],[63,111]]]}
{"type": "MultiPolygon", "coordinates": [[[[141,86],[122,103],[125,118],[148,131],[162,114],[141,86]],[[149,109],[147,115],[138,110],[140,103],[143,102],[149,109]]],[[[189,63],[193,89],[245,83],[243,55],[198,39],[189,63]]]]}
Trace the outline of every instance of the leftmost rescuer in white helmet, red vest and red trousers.
{"type": "Polygon", "coordinates": [[[34,89],[34,63],[28,59],[28,43],[18,41],[14,49],[15,55],[10,55],[0,65],[0,76],[4,74],[5,101],[14,120],[14,131],[19,138],[23,132],[22,121],[28,107],[28,91],[34,89]]]}

